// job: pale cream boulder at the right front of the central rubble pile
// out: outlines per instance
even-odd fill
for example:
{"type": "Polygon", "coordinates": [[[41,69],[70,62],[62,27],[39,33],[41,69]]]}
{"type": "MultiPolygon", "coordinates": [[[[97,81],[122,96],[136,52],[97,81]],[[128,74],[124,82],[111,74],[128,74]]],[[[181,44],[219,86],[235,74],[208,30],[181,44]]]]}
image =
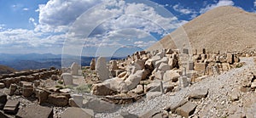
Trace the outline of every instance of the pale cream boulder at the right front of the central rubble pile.
{"type": "Polygon", "coordinates": [[[178,81],[178,78],[180,75],[177,73],[175,70],[166,70],[166,73],[163,76],[164,81],[173,81],[176,82],[178,81]]]}

